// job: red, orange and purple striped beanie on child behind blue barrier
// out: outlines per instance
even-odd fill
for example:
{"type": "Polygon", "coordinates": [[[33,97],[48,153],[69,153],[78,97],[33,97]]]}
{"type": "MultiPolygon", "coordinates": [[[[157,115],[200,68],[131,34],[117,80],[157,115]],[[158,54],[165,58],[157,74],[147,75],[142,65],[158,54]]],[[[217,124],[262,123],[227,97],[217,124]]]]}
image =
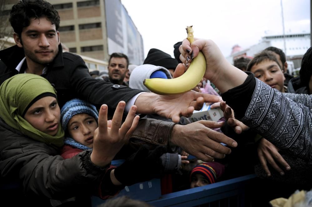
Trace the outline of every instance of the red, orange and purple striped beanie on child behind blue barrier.
{"type": "Polygon", "coordinates": [[[215,183],[217,179],[224,173],[225,166],[219,162],[204,162],[193,168],[190,178],[193,174],[201,174],[209,184],[215,183]]]}

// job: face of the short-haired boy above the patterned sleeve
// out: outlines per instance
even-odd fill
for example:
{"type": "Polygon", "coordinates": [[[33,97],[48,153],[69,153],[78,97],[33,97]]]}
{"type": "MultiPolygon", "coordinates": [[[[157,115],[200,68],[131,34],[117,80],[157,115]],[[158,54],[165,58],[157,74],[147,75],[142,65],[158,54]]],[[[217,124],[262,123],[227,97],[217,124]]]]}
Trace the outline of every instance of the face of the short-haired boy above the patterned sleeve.
{"type": "Polygon", "coordinates": [[[285,92],[285,76],[275,61],[264,60],[261,63],[252,66],[250,72],[254,73],[256,78],[265,82],[272,88],[276,88],[282,93],[285,92]]]}

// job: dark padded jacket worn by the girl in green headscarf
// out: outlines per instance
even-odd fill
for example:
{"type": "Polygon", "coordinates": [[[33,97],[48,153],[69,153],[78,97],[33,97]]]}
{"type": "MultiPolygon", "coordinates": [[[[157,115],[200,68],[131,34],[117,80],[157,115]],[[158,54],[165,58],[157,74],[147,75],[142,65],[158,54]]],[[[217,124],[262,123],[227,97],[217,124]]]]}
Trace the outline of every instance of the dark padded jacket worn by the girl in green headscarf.
{"type": "Polygon", "coordinates": [[[50,206],[50,199],[65,200],[73,196],[90,204],[90,195],[103,199],[115,195],[120,189],[110,188],[110,166],[96,167],[90,160],[91,150],[86,150],[71,159],[64,160],[59,149],[46,143],[25,137],[20,131],[0,119],[0,169],[1,199],[12,206],[50,206]],[[105,177],[104,177],[105,176],[105,177]],[[39,180],[39,181],[38,181],[39,180]],[[13,189],[5,184],[16,186],[13,189]],[[35,200],[35,201],[34,201],[35,200]]]}

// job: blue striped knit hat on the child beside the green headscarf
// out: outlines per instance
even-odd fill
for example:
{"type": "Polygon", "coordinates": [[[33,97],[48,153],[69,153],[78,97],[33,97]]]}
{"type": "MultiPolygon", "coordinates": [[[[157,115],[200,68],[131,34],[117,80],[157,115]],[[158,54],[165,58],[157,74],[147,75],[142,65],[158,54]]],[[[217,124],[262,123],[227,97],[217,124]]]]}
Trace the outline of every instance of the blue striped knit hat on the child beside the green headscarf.
{"type": "Polygon", "coordinates": [[[96,110],[96,107],[87,101],[82,101],[77,98],[67,101],[61,109],[61,122],[63,130],[66,132],[67,124],[74,115],[82,113],[93,116],[96,121],[99,119],[99,112],[96,110]]]}

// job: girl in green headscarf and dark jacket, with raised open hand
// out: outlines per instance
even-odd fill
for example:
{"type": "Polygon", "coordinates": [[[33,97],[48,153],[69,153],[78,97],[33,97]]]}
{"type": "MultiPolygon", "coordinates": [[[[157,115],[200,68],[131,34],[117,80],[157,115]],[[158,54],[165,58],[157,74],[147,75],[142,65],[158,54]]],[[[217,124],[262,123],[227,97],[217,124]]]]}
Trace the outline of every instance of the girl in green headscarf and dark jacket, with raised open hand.
{"type": "MultiPolygon", "coordinates": [[[[122,120],[119,102],[113,122],[122,120]]],[[[132,106],[124,124],[107,128],[107,105],[99,114],[99,132],[93,150],[71,159],[59,155],[64,132],[56,91],[41,76],[18,74],[0,86],[0,184],[18,180],[23,193],[1,190],[6,199],[36,200],[39,206],[58,206],[57,200],[76,196],[75,206],[89,206],[90,195],[106,199],[124,187],[116,181],[110,161],[128,141],[139,120],[132,106]],[[126,126],[124,126],[126,125],[126,126]],[[103,150],[103,149],[109,150],[103,150]],[[57,199],[51,200],[50,199],[57,199]]],[[[128,174],[128,172],[124,172],[128,174]]]]}

